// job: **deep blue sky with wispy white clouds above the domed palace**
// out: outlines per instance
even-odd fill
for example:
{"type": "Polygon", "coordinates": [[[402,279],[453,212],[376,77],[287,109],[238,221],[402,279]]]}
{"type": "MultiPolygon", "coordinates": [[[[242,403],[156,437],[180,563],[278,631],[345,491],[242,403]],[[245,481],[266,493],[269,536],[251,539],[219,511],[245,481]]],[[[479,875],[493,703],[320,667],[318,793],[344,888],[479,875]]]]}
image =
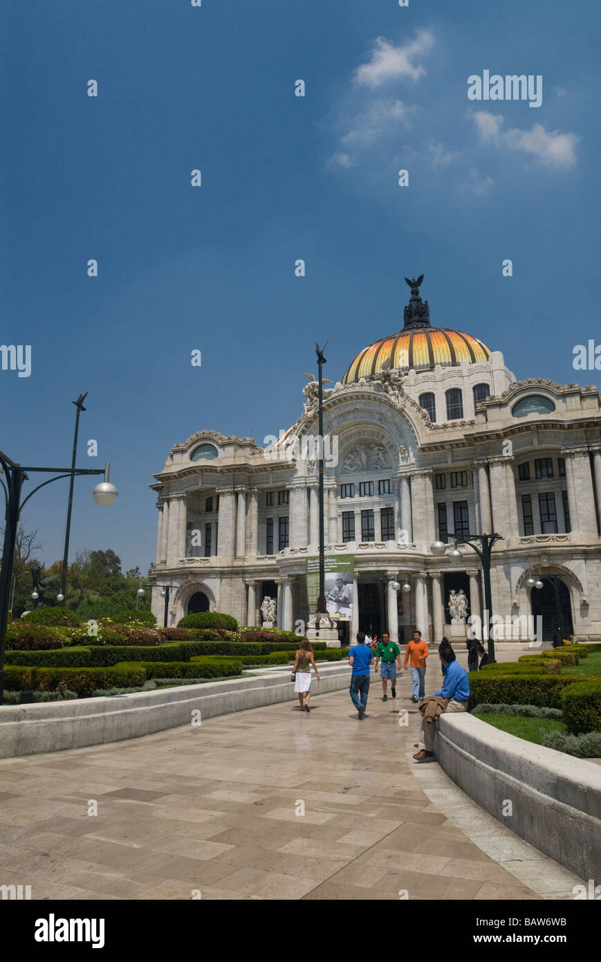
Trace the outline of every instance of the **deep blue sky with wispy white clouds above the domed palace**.
{"type": "MultiPolygon", "coordinates": [[[[599,20],[589,0],[3,5],[1,340],[32,345],[32,372],[0,370],[1,447],[68,464],[89,392],[78,465],[110,460],[120,497],[100,508],[76,482],[71,554],[147,570],[172,444],[287,427],[314,342],[339,380],[402,326],[404,275],[425,273],[433,324],[518,378],[599,386],[572,368],[601,340],[599,20]],[[541,106],[469,101],[485,69],[541,75],[541,106]]],[[[23,517],[47,563],[66,496],[50,485],[23,517]]]]}

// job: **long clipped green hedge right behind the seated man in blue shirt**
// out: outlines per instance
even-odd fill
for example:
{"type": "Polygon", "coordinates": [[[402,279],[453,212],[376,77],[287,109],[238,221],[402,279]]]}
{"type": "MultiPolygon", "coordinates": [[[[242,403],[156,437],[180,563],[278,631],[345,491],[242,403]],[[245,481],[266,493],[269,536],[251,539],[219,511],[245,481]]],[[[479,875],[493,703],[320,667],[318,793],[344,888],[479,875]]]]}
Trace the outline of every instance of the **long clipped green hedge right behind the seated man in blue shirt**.
{"type": "MultiPolygon", "coordinates": [[[[587,675],[582,676],[588,681],[587,675]]],[[[574,675],[490,674],[472,671],[469,675],[469,709],[481,702],[509,705],[539,705],[563,708],[562,692],[575,681],[574,675]]]]}

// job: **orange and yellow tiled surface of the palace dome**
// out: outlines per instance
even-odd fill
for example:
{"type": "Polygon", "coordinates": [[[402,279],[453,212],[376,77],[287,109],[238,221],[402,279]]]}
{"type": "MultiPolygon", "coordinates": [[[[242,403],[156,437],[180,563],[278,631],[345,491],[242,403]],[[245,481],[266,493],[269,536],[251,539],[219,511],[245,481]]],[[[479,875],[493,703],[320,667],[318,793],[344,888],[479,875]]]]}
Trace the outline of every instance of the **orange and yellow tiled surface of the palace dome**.
{"type": "Polygon", "coordinates": [[[451,367],[460,365],[462,361],[477,364],[488,361],[489,357],[487,345],[471,334],[451,331],[447,327],[414,328],[364,347],[347,368],[342,384],[351,384],[360,377],[393,367],[428,370],[436,364],[451,367]]]}

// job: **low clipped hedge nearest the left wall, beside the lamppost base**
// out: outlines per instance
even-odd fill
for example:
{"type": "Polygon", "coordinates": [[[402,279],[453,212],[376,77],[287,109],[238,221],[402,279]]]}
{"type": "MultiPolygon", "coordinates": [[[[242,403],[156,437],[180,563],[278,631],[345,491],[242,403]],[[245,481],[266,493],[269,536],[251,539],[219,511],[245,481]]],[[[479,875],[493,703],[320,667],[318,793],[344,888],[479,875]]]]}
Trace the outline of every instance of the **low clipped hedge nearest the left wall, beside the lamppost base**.
{"type": "Polygon", "coordinates": [[[89,696],[97,688],[124,688],[141,685],[146,671],[139,663],[113,668],[27,668],[7,665],[4,680],[8,691],[32,689],[39,692],[58,692],[62,689],[89,696]]]}

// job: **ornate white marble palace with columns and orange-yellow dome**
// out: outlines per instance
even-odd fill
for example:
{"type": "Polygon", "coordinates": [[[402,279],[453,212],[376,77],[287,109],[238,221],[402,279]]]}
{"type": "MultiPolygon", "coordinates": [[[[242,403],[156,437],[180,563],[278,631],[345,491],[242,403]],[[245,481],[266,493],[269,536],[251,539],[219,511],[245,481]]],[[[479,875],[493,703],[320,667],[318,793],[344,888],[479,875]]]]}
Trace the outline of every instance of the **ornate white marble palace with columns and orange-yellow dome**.
{"type": "MultiPolygon", "coordinates": [[[[484,612],[480,560],[465,542],[496,532],[492,613],[513,623],[513,638],[515,625],[522,641],[532,638],[524,625],[533,615],[545,640],[560,628],[599,638],[599,392],[516,381],[499,350],[431,326],[422,280],[408,281],[403,330],[364,347],[323,393],[324,433],[338,455],[325,463],[326,559],[351,559],[352,613],[340,637],[388,630],[407,641],[418,628],[428,641],[464,638],[465,625],[451,623],[451,592],[464,593],[467,614],[484,612]],[[449,556],[455,540],[459,562],[449,556]],[[444,554],[431,549],[436,541],[449,545],[444,554]]],[[[266,595],[277,599],[279,627],[308,622],[316,382],[304,395],[300,417],[266,448],[203,430],[175,444],[155,475],[149,576],[172,587],[169,623],[215,610],[260,625],[266,595]]],[[[161,622],[163,600],[152,594],[161,622]]]]}

